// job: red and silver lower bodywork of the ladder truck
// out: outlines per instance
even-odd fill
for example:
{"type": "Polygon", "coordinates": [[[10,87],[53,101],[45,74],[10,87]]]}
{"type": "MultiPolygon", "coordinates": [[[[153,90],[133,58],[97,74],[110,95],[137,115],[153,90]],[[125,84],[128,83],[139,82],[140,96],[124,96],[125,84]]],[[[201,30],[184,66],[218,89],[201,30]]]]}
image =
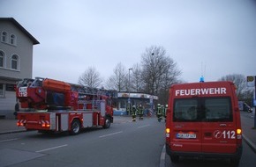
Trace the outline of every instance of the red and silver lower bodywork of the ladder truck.
{"type": "Polygon", "coordinates": [[[104,125],[104,118],[100,112],[20,112],[18,114],[18,126],[27,130],[49,130],[64,132],[71,130],[71,122],[77,119],[81,128],[99,127],[104,125]]]}

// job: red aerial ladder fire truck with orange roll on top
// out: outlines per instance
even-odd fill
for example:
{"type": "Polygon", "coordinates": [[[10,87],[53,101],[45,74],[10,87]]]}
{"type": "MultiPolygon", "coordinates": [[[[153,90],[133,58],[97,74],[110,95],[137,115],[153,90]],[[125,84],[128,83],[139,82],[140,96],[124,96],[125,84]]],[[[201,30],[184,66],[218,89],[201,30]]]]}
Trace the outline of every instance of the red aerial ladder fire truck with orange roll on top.
{"type": "Polygon", "coordinates": [[[79,134],[82,128],[109,128],[115,91],[68,84],[49,78],[24,79],[17,85],[21,108],[17,126],[39,132],[79,134]]]}

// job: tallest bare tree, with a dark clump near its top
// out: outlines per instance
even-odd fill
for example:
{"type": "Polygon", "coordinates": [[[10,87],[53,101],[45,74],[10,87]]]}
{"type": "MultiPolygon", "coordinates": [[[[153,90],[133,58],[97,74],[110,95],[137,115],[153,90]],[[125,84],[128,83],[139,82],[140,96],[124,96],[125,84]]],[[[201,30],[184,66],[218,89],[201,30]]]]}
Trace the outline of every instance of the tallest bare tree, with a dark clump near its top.
{"type": "Polygon", "coordinates": [[[163,47],[149,47],[141,58],[141,76],[144,89],[149,94],[159,95],[160,91],[168,91],[181,75],[177,63],[166,55],[163,47]]]}

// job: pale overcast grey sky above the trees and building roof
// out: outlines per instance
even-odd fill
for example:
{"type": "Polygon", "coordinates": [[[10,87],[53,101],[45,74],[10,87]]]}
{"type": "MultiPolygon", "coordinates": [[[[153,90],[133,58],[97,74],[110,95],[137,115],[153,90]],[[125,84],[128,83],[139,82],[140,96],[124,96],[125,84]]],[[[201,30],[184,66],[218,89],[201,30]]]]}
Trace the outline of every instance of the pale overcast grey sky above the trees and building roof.
{"type": "Polygon", "coordinates": [[[107,80],[153,45],[186,82],[256,75],[255,0],[0,0],[0,17],[39,40],[33,76],[77,83],[95,67],[107,80]]]}

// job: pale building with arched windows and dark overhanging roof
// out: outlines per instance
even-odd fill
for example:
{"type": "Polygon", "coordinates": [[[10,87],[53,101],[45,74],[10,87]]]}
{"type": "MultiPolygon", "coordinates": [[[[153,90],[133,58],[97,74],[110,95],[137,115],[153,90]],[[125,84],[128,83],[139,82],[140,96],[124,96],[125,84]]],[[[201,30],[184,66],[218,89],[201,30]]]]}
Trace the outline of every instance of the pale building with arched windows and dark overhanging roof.
{"type": "Polygon", "coordinates": [[[15,85],[32,78],[33,47],[39,44],[14,18],[0,18],[0,118],[14,118],[15,85]]]}

